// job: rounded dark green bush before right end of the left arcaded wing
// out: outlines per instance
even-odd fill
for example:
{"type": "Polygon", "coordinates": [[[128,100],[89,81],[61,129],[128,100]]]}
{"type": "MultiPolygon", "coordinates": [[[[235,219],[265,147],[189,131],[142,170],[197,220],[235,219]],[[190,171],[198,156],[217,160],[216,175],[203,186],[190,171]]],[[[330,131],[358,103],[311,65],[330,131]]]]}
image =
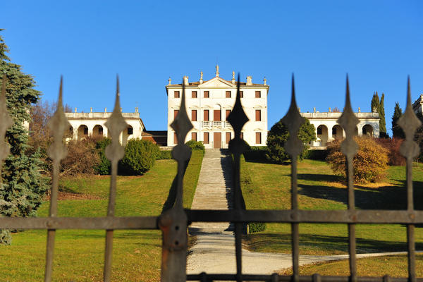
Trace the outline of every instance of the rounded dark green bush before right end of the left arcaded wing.
{"type": "Polygon", "coordinates": [[[153,167],[158,154],[159,146],[149,140],[129,140],[125,156],[119,162],[119,171],[125,175],[142,176],[153,167]]]}

